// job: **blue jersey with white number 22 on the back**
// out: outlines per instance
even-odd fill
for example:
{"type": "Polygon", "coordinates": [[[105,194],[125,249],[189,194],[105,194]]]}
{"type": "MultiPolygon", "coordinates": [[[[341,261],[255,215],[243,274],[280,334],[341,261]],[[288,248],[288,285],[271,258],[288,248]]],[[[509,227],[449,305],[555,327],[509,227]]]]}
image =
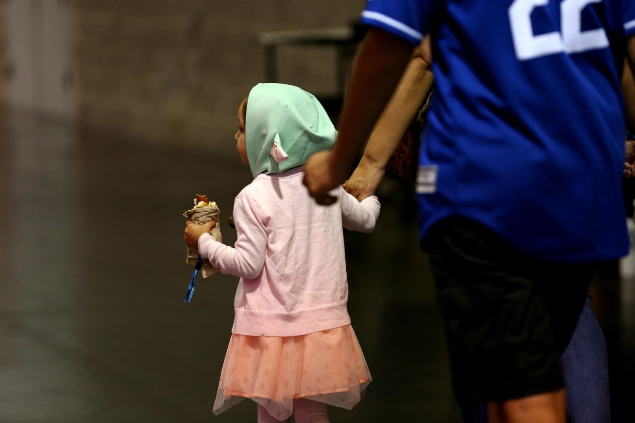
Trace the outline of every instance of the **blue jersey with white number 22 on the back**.
{"type": "Polygon", "coordinates": [[[461,215],[545,260],[628,252],[619,74],[635,0],[369,0],[362,20],[432,36],[422,237],[461,215]]]}

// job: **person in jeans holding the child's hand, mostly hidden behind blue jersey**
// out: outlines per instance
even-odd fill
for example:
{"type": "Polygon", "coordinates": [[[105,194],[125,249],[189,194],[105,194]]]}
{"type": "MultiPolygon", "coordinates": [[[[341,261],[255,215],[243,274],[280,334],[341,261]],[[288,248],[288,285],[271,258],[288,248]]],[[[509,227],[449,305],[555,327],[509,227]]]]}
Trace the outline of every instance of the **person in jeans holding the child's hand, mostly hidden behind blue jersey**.
{"type": "MultiPolygon", "coordinates": [[[[370,196],[384,177],[385,168],[401,142],[406,128],[415,119],[429,91],[434,76],[431,72],[429,37],[413,50],[404,74],[384,111],[377,119],[364,154],[351,177],[344,183],[349,194],[359,201],[370,196]]],[[[629,126],[635,122],[635,84],[627,63],[624,64],[622,87],[629,126]]],[[[627,142],[627,152],[632,150],[627,142]]],[[[632,162],[632,152],[629,155],[632,162]]],[[[408,166],[408,165],[406,165],[408,166]]],[[[625,166],[625,176],[631,177],[631,165],[625,166]]],[[[610,422],[610,392],[606,341],[587,298],[578,324],[561,359],[566,388],[566,406],[573,423],[610,422]]],[[[461,406],[465,423],[487,422],[488,413],[481,404],[461,406]]]]}

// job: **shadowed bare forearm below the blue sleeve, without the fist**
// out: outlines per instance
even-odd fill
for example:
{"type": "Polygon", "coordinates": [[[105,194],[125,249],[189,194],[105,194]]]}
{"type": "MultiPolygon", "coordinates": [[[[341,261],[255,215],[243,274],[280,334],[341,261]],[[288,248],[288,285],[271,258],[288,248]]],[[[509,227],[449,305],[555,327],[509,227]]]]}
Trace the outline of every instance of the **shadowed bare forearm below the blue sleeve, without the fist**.
{"type": "Polygon", "coordinates": [[[373,129],[412,52],[411,44],[380,29],[370,29],[353,64],[333,161],[349,169],[373,129]]]}

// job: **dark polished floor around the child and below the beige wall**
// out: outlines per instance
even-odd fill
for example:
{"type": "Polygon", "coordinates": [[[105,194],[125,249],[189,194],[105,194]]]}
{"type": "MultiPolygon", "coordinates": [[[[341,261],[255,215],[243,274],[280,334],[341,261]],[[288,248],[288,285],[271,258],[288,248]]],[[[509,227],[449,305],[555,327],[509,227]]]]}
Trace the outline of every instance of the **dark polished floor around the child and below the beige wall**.
{"type": "MultiPolygon", "coordinates": [[[[250,182],[232,140],[187,152],[0,119],[0,422],[255,421],[249,401],[211,413],[237,278],[199,278],[182,301],[183,211],[201,192],[225,222],[250,182]]],[[[354,410],[330,410],[333,422],[460,421],[404,192],[387,180],[377,230],[347,234],[349,310],[374,380],[354,410]]],[[[222,231],[232,244],[235,232],[222,231]]],[[[625,408],[635,278],[606,278],[615,405],[625,408]]]]}

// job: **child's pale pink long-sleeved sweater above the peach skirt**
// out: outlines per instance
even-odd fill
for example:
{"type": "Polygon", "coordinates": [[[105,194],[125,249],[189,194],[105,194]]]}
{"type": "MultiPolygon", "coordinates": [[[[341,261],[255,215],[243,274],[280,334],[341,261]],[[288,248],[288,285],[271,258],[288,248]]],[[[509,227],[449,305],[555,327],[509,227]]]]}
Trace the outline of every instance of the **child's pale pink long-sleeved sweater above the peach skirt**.
{"type": "Polygon", "coordinates": [[[338,200],[319,206],[302,185],[302,168],[258,175],[234,201],[235,248],[210,234],[199,253],[241,278],[233,333],[290,337],[351,323],[342,226],[371,232],[379,201],[359,203],[342,187],[338,200]]]}

